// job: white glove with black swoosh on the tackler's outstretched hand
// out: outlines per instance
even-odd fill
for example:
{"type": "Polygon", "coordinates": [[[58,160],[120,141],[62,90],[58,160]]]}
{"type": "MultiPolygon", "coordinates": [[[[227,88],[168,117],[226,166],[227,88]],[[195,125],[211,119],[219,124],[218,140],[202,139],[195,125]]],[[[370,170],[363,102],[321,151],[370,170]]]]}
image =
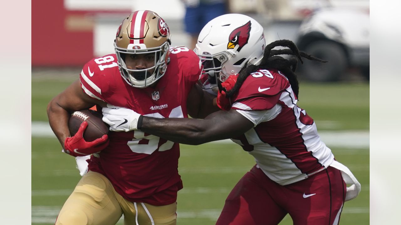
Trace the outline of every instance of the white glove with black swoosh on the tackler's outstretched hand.
{"type": "Polygon", "coordinates": [[[117,107],[107,104],[102,108],[103,122],[110,125],[110,131],[134,131],[138,129],[139,113],[129,108],[117,107]]]}

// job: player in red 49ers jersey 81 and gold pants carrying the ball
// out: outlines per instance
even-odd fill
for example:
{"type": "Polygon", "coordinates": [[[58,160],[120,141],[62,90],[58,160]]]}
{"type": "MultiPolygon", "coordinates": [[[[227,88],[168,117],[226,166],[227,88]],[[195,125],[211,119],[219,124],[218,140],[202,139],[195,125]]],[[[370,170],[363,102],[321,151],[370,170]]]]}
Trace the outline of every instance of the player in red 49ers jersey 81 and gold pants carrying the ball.
{"type": "Polygon", "coordinates": [[[117,30],[115,54],[87,62],[79,80],[49,103],[49,123],[64,151],[93,154],[89,172],[65,202],[57,225],[111,225],[123,214],[124,224],[176,224],[177,192],[182,189],[178,143],[142,131],[110,132],[87,142],[82,137],[86,122],[73,137],[67,125],[71,112],[94,104],[156,118],[202,118],[210,113],[205,109],[218,110],[215,96],[197,84],[202,71],[198,56],[170,44],[170,30],[158,14],[133,12],[117,30]]]}

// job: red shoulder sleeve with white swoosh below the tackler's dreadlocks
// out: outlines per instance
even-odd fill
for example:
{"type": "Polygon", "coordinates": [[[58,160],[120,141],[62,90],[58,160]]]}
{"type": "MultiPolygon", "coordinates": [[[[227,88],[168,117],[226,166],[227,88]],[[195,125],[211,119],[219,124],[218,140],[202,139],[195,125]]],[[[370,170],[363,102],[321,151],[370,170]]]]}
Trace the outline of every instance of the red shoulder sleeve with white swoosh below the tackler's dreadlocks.
{"type": "Polygon", "coordinates": [[[278,70],[257,70],[251,73],[234,96],[243,110],[269,110],[278,103],[283,91],[290,87],[288,79],[278,70]]]}

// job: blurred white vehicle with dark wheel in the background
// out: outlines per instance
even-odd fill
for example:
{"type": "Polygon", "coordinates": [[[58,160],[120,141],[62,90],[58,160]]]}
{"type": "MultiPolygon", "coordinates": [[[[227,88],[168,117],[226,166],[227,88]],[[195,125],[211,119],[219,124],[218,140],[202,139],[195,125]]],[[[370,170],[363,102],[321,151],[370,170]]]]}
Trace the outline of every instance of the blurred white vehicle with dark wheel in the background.
{"type": "Polygon", "coordinates": [[[369,80],[369,11],[355,8],[322,8],[306,18],[296,44],[300,50],[327,60],[305,60],[300,78],[329,82],[341,80],[347,68],[358,68],[369,80]]]}

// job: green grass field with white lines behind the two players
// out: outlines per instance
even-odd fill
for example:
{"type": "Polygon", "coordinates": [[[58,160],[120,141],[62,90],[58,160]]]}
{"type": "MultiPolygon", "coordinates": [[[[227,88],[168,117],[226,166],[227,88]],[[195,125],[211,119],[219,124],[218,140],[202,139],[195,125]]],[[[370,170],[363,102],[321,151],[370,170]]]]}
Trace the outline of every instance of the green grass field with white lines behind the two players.
{"type": "MultiPolygon", "coordinates": [[[[47,103],[69,83],[32,77],[32,121],[47,121],[47,103]]],[[[369,84],[301,83],[299,106],[321,131],[369,130],[369,84]]],[[[360,195],[345,203],[341,224],[369,224],[369,149],[330,148],[362,185],[360,195]]],[[[178,224],[214,224],[228,193],[254,164],[234,144],[181,145],[178,224]]],[[[54,224],[79,179],[75,159],[61,153],[55,137],[32,137],[32,224],[54,224]]],[[[292,220],[286,217],[280,224],[292,220]]]]}

